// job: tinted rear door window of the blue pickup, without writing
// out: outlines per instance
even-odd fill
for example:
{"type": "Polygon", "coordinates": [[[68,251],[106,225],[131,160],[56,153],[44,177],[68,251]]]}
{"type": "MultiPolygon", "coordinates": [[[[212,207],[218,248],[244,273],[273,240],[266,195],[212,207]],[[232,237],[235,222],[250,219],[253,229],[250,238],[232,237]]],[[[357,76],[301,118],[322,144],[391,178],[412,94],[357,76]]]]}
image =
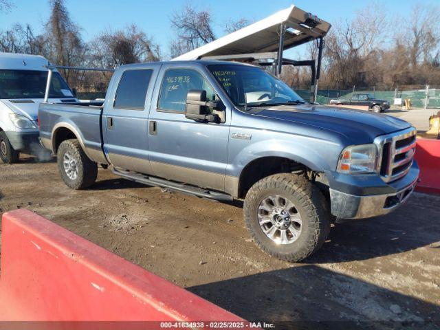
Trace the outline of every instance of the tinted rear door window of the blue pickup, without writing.
{"type": "Polygon", "coordinates": [[[127,70],[122,74],[116,91],[115,104],[118,109],[144,110],[146,91],[153,70],[127,70]]]}

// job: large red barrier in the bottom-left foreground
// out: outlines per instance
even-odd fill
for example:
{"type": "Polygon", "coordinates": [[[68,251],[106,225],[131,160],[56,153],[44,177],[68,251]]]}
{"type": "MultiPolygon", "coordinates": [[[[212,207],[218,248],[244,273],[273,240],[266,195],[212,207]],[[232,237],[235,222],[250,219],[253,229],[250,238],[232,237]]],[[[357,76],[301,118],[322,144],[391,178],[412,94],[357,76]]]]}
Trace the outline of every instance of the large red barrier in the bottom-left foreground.
{"type": "Polygon", "coordinates": [[[243,321],[28,210],[1,223],[5,320],[243,321]]]}

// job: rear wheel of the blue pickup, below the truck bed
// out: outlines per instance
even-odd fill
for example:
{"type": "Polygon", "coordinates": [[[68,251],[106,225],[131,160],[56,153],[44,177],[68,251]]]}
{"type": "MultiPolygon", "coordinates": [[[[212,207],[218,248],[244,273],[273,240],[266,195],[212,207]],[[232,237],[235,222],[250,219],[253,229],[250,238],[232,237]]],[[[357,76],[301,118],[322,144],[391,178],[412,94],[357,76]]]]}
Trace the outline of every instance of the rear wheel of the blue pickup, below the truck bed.
{"type": "Polygon", "coordinates": [[[56,158],[61,178],[69,188],[84,189],[96,181],[98,166],[87,157],[78,140],[61,142],[56,158]]]}

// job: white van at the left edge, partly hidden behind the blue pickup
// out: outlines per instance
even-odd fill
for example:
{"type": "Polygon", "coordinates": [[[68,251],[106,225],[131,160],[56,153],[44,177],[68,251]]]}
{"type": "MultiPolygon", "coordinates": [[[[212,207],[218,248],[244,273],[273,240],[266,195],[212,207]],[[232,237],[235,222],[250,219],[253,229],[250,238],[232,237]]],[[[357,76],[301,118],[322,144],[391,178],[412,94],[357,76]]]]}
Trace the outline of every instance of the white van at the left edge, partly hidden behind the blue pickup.
{"type": "MultiPolygon", "coordinates": [[[[21,151],[39,153],[37,115],[45,96],[48,64],[43,56],[0,53],[0,159],[4,163],[17,162],[21,151]]],[[[74,101],[72,90],[54,72],[50,102],[74,101]]]]}

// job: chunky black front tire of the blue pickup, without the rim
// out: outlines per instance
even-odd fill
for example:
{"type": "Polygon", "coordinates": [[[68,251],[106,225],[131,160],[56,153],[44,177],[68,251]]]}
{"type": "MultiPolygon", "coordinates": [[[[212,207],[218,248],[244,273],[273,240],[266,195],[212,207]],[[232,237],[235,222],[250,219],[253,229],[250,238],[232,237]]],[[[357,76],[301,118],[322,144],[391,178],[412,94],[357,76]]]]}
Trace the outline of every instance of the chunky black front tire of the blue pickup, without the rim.
{"type": "Polygon", "coordinates": [[[296,262],[319,250],[330,232],[330,212],[324,195],[304,176],[281,173],[256,182],[245,197],[245,225],[256,245],[278,259],[296,262]],[[283,195],[295,204],[303,221],[298,239],[276,244],[261,229],[258,212],[261,201],[270,195],[283,195]]]}

